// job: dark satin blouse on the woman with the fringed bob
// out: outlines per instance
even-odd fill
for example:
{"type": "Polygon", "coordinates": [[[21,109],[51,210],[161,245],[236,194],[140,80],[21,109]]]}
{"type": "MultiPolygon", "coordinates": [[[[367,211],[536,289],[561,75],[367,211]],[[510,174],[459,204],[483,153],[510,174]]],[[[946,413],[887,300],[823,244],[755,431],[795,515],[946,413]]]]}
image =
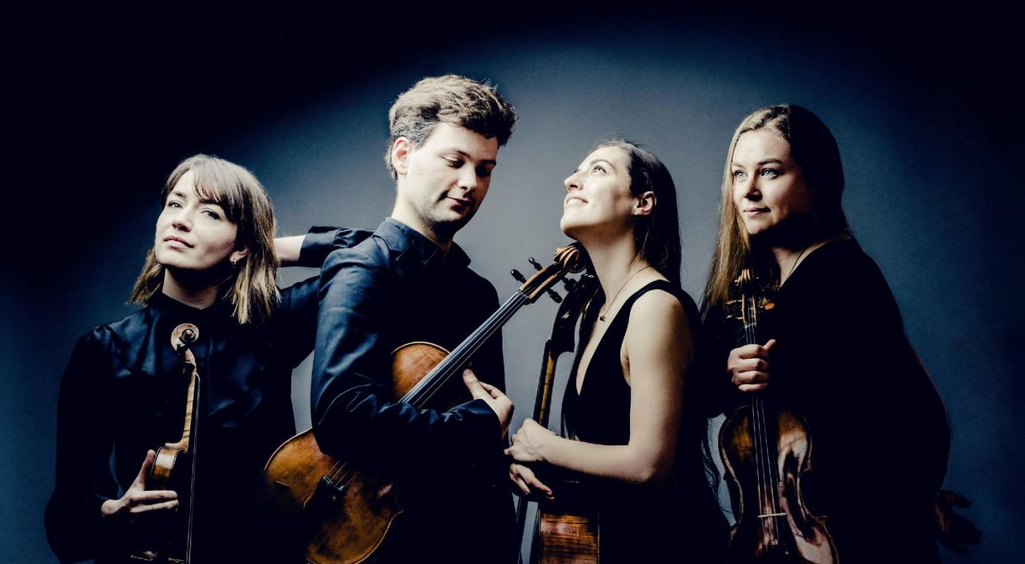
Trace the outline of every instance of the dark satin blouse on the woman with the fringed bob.
{"type": "MultiPolygon", "coordinates": [[[[368,235],[312,232],[300,264],[319,266],[334,248],[368,235]]],[[[295,433],[291,372],[314,347],[317,282],[283,289],[260,326],[240,326],[223,301],[197,310],[158,293],[141,310],[79,338],[60,385],[56,485],[46,510],[47,536],[61,562],[123,559],[123,531],[105,526],[100,506],[131,485],[147,450],[181,436],[188,382],[170,334],[187,322],[199,327],[190,349],[202,382],[193,561],[259,555],[266,538],[262,469],[295,433]]]]}

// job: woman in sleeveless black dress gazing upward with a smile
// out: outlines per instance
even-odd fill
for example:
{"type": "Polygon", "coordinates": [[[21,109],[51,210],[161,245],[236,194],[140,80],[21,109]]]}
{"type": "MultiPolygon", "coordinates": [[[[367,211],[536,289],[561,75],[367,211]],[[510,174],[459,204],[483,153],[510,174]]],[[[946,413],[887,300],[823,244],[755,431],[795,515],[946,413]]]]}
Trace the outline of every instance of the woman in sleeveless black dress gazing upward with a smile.
{"type": "Polygon", "coordinates": [[[698,311],[680,287],[676,189],[665,165],[604,142],[564,182],[561,227],[600,288],[580,324],[563,400],[565,437],[527,419],[507,450],[524,495],[559,502],[554,472],[583,477],[601,560],[715,562],[726,522],[706,482],[698,311]]]}

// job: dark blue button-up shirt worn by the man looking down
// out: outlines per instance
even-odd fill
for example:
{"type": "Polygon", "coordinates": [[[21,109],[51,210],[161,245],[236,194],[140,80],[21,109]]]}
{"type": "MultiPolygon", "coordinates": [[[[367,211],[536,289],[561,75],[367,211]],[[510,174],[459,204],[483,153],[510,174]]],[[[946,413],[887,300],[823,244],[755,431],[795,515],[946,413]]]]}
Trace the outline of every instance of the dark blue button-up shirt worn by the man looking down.
{"type": "MultiPolygon", "coordinates": [[[[394,562],[498,561],[512,555],[504,441],[484,400],[417,409],[394,397],[391,354],[427,341],[451,351],[498,308],[494,287],[455,244],[387,218],[374,235],[333,251],[320,280],[312,386],[321,449],[399,480],[403,527],[389,532],[394,562]],[[481,551],[488,551],[482,554],[481,551]]],[[[471,359],[482,381],[505,388],[501,338],[471,359]]],[[[458,391],[458,390],[456,390],[458,391]]]]}

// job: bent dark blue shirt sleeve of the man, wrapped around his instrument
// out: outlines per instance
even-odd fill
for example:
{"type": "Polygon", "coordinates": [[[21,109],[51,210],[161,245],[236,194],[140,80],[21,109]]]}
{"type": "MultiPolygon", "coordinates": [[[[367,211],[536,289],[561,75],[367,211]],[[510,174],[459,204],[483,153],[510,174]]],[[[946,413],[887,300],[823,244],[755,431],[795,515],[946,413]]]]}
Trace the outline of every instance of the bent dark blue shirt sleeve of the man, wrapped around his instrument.
{"type": "Polygon", "coordinates": [[[311,387],[318,444],[328,454],[395,471],[410,459],[488,456],[500,428],[484,400],[439,412],[392,398],[391,351],[381,335],[383,324],[402,319],[386,307],[386,277],[356,249],[336,250],[324,264],[311,387]]]}

